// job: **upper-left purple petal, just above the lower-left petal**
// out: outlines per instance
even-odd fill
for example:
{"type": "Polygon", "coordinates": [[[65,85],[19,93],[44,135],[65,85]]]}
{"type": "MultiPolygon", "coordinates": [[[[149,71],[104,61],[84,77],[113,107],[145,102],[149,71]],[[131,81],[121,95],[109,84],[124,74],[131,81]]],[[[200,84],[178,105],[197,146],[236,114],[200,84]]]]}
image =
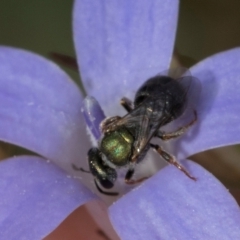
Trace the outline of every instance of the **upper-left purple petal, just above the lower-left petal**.
{"type": "Polygon", "coordinates": [[[71,79],[50,61],[7,47],[0,47],[0,73],[0,139],[63,167],[79,161],[87,136],[71,79]]]}

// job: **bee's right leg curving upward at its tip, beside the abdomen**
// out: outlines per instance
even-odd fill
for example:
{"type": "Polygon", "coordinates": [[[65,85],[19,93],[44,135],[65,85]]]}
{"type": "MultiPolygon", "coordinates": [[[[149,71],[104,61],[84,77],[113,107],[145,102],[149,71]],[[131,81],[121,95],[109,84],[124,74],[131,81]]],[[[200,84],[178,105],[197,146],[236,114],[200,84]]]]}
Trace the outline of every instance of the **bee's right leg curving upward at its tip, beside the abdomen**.
{"type": "Polygon", "coordinates": [[[165,133],[158,130],[156,137],[159,137],[164,141],[167,141],[171,138],[177,138],[181,136],[183,133],[185,133],[194,123],[196,123],[196,121],[197,121],[197,112],[194,110],[194,119],[191,122],[189,122],[186,126],[180,127],[176,131],[170,132],[170,133],[165,133]]]}

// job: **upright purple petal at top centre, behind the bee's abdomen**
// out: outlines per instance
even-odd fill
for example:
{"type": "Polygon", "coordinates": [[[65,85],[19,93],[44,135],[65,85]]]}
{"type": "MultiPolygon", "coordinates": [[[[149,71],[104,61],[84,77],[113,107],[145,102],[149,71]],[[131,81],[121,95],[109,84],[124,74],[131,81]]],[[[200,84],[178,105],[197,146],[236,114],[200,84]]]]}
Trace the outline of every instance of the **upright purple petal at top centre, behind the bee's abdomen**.
{"type": "Polygon", "coordinates": [[[88,94],[118,113],[120,98],[169,67],[177,17],[178,0],[77,0],[74,40],[88,94]]]}

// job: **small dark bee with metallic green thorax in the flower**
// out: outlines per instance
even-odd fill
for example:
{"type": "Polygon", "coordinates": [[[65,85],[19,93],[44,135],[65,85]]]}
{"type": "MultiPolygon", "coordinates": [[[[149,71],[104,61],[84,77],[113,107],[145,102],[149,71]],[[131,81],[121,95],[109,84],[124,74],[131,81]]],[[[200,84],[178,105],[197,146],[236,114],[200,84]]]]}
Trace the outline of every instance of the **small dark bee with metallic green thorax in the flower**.
{"type": "MultiPolygon", "coordinates": [[[[163,73],[148,79],[137,90],[133,102],[126,97],[121,99],[120,103],[127,111],[125,116],[106,118],[100,124],[102,137],[98,147],[88,151],[88,163],[89,172],[94,176],[95,185],[102,194],[118,194],[101,188],[110,189],[114,186],[117,168],[127,167],[126,184],[136,184],[147,179],[133,180],[132,177],[137,164],[144,159],[150,148],[190,179],[196,180],[171,154],[151,143],[152,138],[163,141],[177,138],[197,121],[197,112],[192,109],[193,119],[185,126],[173,132],[161,130],[185,112],[190,89],[194,81],[197,81],[191,76],[176,78],[172,75],[174,74],[163,73]]],[[[87,172],[82,168],[80,170],[87,172]]]]}

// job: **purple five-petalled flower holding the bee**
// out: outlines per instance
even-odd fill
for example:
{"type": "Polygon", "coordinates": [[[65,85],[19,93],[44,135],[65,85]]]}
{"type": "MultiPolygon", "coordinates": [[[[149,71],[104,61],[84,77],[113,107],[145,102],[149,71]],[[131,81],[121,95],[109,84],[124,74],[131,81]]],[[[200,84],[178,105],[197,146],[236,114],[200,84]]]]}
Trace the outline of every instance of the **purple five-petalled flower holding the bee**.
{"type": "MultiPolygon", "coordinates": [[[[107,115],[119,114],[122,96],[132,98],[143,81],[169,68],[177,12],[177,0],[75,2],[81,77],[107,115]]],[[[191,69],[203,86],[199,121],[174,142],[178,159],[240,142],[239,59],[233,49],[191,69]]],[[[55,64],[23,50],[1,47],[0,73],[0,139],[40,155],[0,162],[0,235],[41,239],[97,199],[72,177],[72,163],[84,167],[90,148],[83,98],[55,64]]],[[[121,239],[238,239],[239,207],[228,190],[197,164],[184,165],[196,182],[168,166],[110,206],[121,239]]],[[[92,185],[91,176],[81,176],[92,185]]]]}

